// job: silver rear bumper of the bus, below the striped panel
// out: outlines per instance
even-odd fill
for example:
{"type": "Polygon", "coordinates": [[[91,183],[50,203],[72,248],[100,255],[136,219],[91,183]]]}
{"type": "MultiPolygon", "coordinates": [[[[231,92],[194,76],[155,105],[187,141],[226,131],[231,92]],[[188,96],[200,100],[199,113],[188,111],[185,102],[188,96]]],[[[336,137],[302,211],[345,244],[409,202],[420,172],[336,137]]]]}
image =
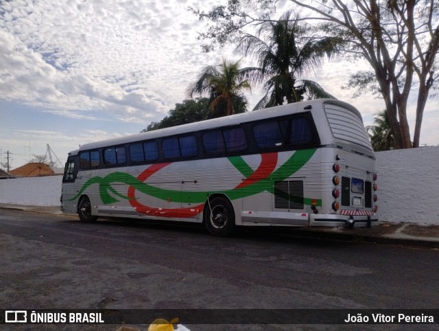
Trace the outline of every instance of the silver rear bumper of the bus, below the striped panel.
{"type": "Polygon", "coordinates": [[[376,214],[311,214],[309,215],[309,225],[311,227],[373,227],[378,225],[378,216],[376,214]]]}

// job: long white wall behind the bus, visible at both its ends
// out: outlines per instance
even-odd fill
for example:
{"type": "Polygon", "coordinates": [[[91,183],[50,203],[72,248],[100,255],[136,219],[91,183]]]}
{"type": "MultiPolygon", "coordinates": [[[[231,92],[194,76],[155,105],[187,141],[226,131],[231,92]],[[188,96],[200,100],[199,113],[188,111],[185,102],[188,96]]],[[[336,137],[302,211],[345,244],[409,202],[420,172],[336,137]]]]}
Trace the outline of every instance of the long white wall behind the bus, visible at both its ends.
{"type": "MultiPolygon", "coordinates": [[[[439,225],[439,147],[377,152],[379,219],[439,225]]],[[[60,205],[62,176],[0,180],[0,203],[60,205]]]]}

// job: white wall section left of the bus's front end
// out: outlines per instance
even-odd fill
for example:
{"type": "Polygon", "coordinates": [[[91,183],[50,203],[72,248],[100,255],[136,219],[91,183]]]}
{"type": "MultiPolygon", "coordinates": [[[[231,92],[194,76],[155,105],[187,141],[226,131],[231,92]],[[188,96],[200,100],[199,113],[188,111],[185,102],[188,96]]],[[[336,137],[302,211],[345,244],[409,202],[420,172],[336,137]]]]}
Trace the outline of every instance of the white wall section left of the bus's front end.
{"type": "Polygon", "coordinates": [[[59,206],[62,176],[0,180],[0,203],[59,206]]]}

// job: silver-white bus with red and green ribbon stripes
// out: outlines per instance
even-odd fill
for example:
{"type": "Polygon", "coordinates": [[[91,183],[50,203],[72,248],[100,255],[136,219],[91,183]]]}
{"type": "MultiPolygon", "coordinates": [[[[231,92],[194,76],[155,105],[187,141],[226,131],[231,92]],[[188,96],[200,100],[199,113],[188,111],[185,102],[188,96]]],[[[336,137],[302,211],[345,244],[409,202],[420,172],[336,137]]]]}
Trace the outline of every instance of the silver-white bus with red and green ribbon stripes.
{"type": "Polygon", "coordinates": [[[69,153],[61,210],[236,226],[378,224],[375,156],[361,115],[331,99],[209,119],[69,153]]]}

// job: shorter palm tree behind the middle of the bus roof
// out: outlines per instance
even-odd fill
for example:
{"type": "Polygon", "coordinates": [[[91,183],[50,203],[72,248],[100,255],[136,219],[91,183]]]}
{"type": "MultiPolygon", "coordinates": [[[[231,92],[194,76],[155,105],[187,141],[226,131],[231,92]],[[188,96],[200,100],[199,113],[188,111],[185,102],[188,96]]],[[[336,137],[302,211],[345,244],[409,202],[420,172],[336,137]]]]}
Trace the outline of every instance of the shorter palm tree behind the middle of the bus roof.
{"type": "Polygon", "coordinates": [[[212,117],[244,113],[248,100],[243,91],[251,91],[250,78],[255,68],[239,67],[239,62],[224,59],[220,65],[205,67],[198,80],[189,85],[189,98],[209,95],[212,117]]]}

